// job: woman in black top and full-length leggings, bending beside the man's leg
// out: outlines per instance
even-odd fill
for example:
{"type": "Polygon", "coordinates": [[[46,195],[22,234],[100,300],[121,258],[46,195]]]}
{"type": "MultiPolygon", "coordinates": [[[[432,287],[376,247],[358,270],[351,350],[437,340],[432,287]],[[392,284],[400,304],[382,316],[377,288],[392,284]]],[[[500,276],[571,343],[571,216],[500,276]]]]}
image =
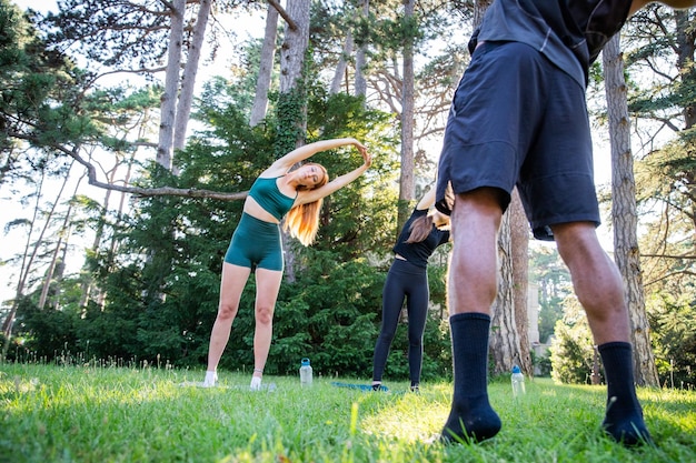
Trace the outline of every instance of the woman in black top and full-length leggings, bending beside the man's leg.
{"type": "Polygon", "coordinates": [[[372,360],[372,389],[381,389],[381,376],[389,356],[404,300],[408,311],[408,368],[410,390],[418,392],[422,365],[422,333],[426,329],[430,289],[428,288],[428,258],[437,246],[449,241],[449,217],[428,209],[435,203],[435,188],[418,202],[406,221],[392,249],[394,263],[387,273],[382,290],[381,330],[372,360]]]}

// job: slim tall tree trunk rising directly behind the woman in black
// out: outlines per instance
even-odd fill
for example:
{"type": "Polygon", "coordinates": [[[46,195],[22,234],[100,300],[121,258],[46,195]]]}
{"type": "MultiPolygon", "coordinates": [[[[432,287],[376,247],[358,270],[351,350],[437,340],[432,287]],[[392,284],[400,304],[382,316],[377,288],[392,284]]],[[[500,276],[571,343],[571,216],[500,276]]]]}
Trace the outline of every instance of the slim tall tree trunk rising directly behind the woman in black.
{"type": "MultiPolygon", "coordinates": [[[[404,22],[414,21],[415,0],[404,0],[404,22]]],[[[414,175],[414,38],[404,37],[404,79],[401,80],[401,177],[399,181],[399,214],[397,230],[408,220],[410,201],[416,190],[414,175]]]]}

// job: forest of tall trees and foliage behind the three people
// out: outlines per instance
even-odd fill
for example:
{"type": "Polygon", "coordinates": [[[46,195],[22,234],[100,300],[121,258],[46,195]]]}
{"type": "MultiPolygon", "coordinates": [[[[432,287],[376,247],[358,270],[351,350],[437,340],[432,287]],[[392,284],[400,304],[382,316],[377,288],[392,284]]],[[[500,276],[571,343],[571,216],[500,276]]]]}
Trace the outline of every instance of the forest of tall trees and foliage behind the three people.
{"type": "MultiPolygon", "coordinates": [[[[432,184],[488,3],[63,0],[37,12],[0,0],[0,194],[20,207],[4,213],[3,359],[202,369],[250,182],[299,143],[355,137],[370,171],[326,201],[314,246],[286,239],[267,372],[309,356],[319,374],[368,376],[390,249],[432,184]],[[213,61],[219,73],[201,71],[213,61]]],[[[612,160],[610,181],[597,169],[603,230],[630,301],[637,381],[693,387],[693,13],[653,6],[614,42],[588,98],[596,158],[612,160]]],[[[342,151],[317,161],[332,174],[359,162],[342,151]]],[[[447,252],[428,269],[424,380],[451,370],[447,252]]],[[[500,265],[491,371],[537,363],[558,381],[600,382],[567,270],[554,246],[529,241],[515,207],[500,265]],[[529,283],[549,361],[527,339],[529,283]]],[[[250,280],[221,368],[252,364],[253,291],[250,280]]],[[[407,375],[406,322],[395,379],[407,375]]]]}

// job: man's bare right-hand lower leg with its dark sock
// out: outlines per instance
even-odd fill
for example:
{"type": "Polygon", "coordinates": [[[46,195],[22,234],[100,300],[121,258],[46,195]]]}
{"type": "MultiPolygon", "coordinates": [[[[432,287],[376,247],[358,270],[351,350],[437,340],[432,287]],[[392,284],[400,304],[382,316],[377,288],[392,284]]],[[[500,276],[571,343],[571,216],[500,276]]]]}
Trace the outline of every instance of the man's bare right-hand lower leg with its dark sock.
{"type": "Polygon", "coordinates": [[[593,223],[558,224],[553,231],[604,363],[607,412],[603,426],[616,441],[627,445],[650,442],[634,384],[630,326],[622,276],[599,245],[593,223]]]}

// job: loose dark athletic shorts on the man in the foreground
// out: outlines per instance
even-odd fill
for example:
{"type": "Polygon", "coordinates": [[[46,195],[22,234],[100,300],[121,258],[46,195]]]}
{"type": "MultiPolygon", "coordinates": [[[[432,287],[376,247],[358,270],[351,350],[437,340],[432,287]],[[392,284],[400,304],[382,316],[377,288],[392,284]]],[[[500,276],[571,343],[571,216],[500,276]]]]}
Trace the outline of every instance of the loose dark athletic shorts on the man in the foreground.
{"type": "Polygon", "coordinates": [[[454,97],[436,205],[448,213],[453,191],[494,187],[505,211],[515,185],[537,239],[600,222],[585,89],[529,46],[485,42],[454,97]]]}

